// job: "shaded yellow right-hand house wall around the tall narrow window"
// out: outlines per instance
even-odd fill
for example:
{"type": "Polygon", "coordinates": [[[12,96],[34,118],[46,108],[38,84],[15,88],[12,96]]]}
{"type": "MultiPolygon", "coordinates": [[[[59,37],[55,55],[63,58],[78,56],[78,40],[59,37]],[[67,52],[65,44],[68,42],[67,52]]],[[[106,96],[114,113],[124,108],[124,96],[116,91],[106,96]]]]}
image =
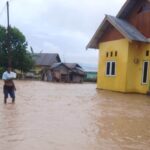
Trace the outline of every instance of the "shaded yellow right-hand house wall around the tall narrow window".
{"type": "Polygon", "coordinates": [[[127,92],[147,93],[148,91],[149,83],[142,84],[143,62],[150,61],[150,56],[146,56],[147,50],[150,51],[150,44],[138,42],[129,44],[127,92]]]}

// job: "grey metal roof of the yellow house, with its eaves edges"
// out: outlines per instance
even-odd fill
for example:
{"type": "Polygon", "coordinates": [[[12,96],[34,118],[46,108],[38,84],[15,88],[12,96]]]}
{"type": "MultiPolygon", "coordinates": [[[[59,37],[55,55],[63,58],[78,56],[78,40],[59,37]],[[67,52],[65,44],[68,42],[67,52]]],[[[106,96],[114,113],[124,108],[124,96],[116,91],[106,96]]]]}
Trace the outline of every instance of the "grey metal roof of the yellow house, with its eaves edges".
{"type": "Polygon", "coordinates": [[[111,16],[110,17],[106,16],[103,22],[101,23],[101,25],[98,27],[96,33],[94,34],[94,36],[92,37],[91,41],[88,43],[86,48],[87,49],[98,48],[98,44],[100,43],[100,38],[107,30],[109,23],[111,23],[115,28],[117,28],[118,31],[121,31],[121,33],[130,40],[150,42],[150,40],[148,39],[145,40],[144,35],[142,35],[142,33],[140,33],[136,28],[133,28],[132,25],[130,25],[125,20],[123,20],[126,19],[129,16],[129,14],[134,10],[136,4],[140,4],[140,3],[142,3],[142,0],[127,0],[126,3],[121,8],[121,10],[119,11],[116,18],[115,17],[111,18],[111,16]],[[123,27],[121,27],[122,25],[123,27]]]}

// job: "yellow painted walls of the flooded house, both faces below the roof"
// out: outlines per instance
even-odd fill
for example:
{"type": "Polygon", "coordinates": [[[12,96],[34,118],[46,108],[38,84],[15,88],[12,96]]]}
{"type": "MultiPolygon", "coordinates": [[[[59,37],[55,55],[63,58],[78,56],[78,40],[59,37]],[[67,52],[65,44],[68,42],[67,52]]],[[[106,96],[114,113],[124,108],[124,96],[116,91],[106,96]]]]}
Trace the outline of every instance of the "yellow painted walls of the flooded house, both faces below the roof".
{"type": "Polygon", "coordinates": [[[120,92],[147,93],[149,83],[142,84],[143,62],[149,61],[150,80],[150,44],[130,42],[126,39],[103,42],[99,45],[99,71],[97,88],[120,92]],[[117,57],[115,51],[118,52],[117,57]],[[107,52],[109,57],[106,57],[107,52]],[[113,57],[110,57],[113,52],[113,57]],[[116,62],[116,75],[106,75],[107,61],[116,62]]]}

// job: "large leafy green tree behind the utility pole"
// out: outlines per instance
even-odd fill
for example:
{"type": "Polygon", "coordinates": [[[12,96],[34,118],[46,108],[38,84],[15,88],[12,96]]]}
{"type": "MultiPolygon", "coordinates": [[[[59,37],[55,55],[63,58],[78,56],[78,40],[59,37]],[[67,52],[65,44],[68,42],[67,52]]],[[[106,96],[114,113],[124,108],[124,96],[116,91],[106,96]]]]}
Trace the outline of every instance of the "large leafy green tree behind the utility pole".
{"type": "MultiPolygon", "coordinates": [[[[28,43],[22,32],[16,27],[10,27],[10,49],[12,66],[15,69],[27,72],[33,68],[32,54],[27,50],[28,43]]],[[[8,64],[7,29],[0,26],[0,66],[8,64]]]]}

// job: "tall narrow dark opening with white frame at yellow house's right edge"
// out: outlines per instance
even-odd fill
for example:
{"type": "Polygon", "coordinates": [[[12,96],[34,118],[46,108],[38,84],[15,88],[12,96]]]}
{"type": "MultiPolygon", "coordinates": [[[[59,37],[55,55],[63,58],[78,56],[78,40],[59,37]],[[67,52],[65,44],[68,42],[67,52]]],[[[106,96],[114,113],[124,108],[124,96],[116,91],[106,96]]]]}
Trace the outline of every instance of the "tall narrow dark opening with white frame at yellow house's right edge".
{"type": "Polygon", "coordinates": [[[149,61],[143,62],[143,72],[142,72],[142,84],[149,84],[149,75],[150,75],[150,67],[149,67],[149,61]]]}

